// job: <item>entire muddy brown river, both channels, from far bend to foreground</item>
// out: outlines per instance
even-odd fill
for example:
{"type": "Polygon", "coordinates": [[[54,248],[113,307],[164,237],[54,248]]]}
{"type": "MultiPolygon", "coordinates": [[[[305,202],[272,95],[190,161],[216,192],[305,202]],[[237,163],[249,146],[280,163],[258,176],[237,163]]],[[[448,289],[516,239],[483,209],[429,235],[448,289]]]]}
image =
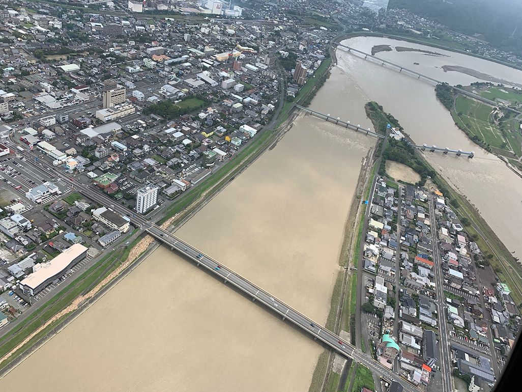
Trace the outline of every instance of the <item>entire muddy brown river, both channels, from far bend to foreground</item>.
{"type": "MultiPolygon", "coordinates": [[[[345,41],[431,50],[379,56],[451,84],[477,79],[460,65],[520,82],[522,72],[466,55],[382,38],[345,41]]],[[[473,159],[426,154],[522,255],[522,181],[470,143],[436,100],[433,84],[338,51],[316,110],[371,126],[376,100],[418,143],[474,150],[473,159]],[[513,224],[515,222],[515,224],[513,224]]],[[[326,320],[350,201],[374,140],[300,117],[178,232],[181,238],[319,322],[326,320]]],[[[286,322],[159,248],[122,282],[0,381],[2,390],[306,391],[322,348],[286,322]]]]}

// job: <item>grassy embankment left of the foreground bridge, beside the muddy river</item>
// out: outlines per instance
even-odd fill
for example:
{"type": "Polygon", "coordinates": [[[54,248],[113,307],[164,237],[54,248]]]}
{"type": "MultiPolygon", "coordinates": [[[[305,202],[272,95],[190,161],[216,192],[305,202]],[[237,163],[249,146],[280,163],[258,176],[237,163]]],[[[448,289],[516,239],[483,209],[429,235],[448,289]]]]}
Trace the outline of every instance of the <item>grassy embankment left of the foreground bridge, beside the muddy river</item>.
{"type": "MultiPolygon", "coordinates": [[[[109,253],[99,261],[97,261],[93,266],[91,266],[87,271],[82,273],[78,278],[76,278],[73,282],[69,283],[69,285],[60,293],[56,294],[54,297],[50,299],[50,301],[43,304],[40,308],[35,310],[33,314],[28,316],[25,320],[21,321],[16,328],[9,331],[0,338],[0,358],[2,358],[5,354],[13,350],[20,344],[23,340],[25,340],[32,332],[40,328],[47,321],[52,319],[57,313],[61,310],[65,309],[73,300],[79,295],[86,294],[89,292],[92,287],[94,287],[98,282],[103,280],[105,276],[108,276],[112,271],[114,271],[120,264],[127,259],[129,252],[132,247],[135,246],[140,237],[137,237],[132,244],[129,246],[123,246],[124,241],[127,241],[131,238],[137,229],[134,230],[133,233],[129,234],[127,237],[120,241],[120,245],[116,247],[116,250],[109,253]]],[[[37,335],[35,335],[28,343],[23,345],[22,348],[16,351],[14,355],[11,355],[9,359],[4,361],[0,365],[0,369],[7,366],[9,363],[14,361],[17,356],[23,353],[25,350],[30,348],[33,344],[38,342],[42,337],[44,337],[47,333],[49,333],[53,328],[58,326],[61,321],[67,315],[61,317],[60,319],[54,321],[44,330],[40,331],[37,335]]]]}

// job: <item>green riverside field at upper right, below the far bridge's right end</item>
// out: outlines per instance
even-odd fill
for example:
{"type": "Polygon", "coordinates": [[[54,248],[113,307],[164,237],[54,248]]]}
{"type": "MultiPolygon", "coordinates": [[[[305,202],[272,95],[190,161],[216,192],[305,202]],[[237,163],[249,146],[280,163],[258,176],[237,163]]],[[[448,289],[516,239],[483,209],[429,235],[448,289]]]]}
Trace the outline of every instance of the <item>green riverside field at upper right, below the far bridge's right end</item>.
{"type": "Polygon", "coordinates": [[[459,95],[455,100],[455,111],[454,119],[458,125],[493,147],[506,148],[499,127],[491,119],[490,106],[459,95]]]}

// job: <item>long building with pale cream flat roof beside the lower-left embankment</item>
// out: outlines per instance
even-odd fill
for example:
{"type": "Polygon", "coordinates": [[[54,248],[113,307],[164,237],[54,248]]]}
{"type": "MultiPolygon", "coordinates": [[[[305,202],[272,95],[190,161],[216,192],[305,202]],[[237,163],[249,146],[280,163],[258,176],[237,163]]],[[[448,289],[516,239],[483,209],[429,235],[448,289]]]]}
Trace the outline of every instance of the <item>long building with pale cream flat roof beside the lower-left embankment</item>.
{"type": "Polygon", "coordinates": [[[81,244],[74,244],[51,261],[35,264],[33,267],[34,272],[19,283],[23,294],[35,295],[45,289],[52,281],[60,278],[60,275],[85,258],[87,250],[88,248],[81,244]]]}

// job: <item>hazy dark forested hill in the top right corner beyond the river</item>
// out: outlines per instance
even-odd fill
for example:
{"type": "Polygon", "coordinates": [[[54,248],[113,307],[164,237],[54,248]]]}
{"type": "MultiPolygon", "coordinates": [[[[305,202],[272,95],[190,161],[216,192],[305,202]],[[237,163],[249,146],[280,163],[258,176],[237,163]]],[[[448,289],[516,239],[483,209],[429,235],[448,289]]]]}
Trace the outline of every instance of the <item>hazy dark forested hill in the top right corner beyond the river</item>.
{"type": "Polygon", "coordinates": [[[483,34],[493,46],[522,54],[520,0],[389,0],[388,8],[405,8],[464,34],[483,34]]]}

